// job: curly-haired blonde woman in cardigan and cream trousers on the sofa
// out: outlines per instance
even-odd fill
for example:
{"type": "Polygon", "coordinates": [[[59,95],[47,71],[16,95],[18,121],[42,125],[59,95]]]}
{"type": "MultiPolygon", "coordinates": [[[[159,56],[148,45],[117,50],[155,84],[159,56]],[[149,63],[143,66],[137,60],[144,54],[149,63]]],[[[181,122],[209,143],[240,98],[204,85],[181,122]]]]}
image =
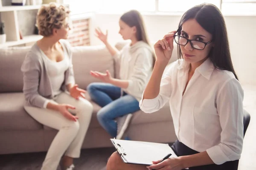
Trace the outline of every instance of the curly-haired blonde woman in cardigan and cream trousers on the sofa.
{"type": "MultiPolygon", "coordinates": [[[[42,6],[37,15],[41,40],[32,46],[21,67],[25,110],[43,125],[58,130],[41,170],[73,170],[79,158],[93,107],[84,99],[73,76],[67,39],[70,11],[55,3],[42,6]]],[[[43,139],[42,139],[43,140],[43,139]]]]}

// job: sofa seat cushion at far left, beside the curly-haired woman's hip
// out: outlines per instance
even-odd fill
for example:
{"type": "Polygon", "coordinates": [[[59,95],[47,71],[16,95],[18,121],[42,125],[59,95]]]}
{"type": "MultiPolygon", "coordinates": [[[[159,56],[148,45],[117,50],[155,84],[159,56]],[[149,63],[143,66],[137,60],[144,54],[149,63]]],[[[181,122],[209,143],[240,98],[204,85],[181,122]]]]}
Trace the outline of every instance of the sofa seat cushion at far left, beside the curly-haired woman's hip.
{"type": "Polygon", "coordinates": [[[23,108],[23,93],[0,94],[0,130],[38,130],[43,126],[23,108]]]}

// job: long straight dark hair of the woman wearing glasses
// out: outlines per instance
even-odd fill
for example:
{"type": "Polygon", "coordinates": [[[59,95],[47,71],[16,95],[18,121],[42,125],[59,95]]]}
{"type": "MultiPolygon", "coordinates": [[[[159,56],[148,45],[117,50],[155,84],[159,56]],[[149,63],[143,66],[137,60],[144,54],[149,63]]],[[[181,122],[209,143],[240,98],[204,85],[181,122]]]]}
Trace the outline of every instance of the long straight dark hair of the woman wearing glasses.
{"type": "MultiPolygon", "coordinates": [[[[215,44],[209,52],[209,58],[214,67],[220,70],[233,72],[238,80],[230,57],[227,28],[221,11],[215,5],[208,3],[203,3],[190,8],[180,19],[177,30],[178,35],[180,35],[182,24],[190,19],[195,19],[201,27],[212,34],[212,42],[215,44]]],[[[178,58],[183,58],[180,45],[178,45],[178,58]]]]}

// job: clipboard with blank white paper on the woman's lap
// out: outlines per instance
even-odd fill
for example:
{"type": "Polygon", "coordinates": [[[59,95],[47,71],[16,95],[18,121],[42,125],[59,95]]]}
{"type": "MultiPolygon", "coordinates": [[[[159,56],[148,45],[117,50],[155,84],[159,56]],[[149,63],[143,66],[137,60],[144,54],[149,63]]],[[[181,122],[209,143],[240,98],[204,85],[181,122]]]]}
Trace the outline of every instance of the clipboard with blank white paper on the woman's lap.
{"type": "Polygon", "coordinates": [[[163,159],[170,153],[172,154],[170,157],[177,157],[169,144],[110,140],[124,163],[152,165],[152,161],[163,159]]]}

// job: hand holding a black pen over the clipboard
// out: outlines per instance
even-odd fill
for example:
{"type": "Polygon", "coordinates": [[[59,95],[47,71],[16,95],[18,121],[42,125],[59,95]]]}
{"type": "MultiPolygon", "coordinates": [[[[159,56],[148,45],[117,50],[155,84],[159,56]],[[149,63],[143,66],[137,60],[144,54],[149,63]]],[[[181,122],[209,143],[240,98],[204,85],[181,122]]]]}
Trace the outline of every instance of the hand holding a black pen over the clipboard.
{"type": "Polygon", "coordinates": [[[147,166],[148,170],[182,170],[185,168],[183,167],[183,164],[179,157],[171,157],[162,162],[161,161],[162,160],[153,161],[153,165],[147,166]]]}

